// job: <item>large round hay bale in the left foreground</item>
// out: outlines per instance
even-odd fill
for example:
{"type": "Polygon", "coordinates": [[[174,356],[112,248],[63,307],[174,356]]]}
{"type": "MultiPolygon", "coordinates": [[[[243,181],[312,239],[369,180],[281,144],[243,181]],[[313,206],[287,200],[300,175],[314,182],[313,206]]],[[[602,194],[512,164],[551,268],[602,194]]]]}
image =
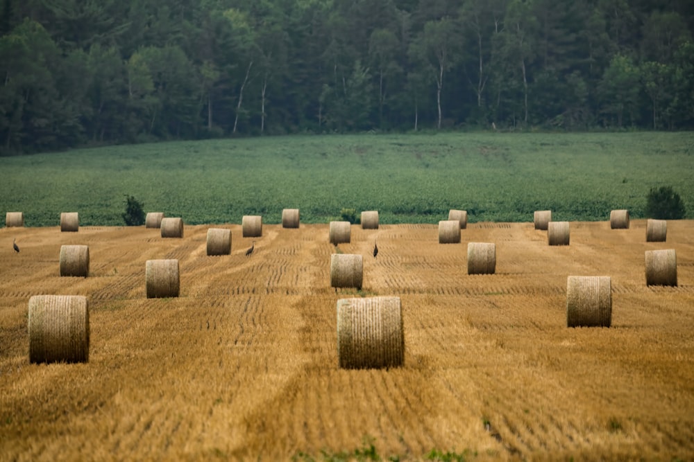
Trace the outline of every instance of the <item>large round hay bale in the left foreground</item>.
{"type": "Polygon", "coordinates": [[[89,362],[89,306],[79,295],[29,299],[29,362],[89,362]]]}

